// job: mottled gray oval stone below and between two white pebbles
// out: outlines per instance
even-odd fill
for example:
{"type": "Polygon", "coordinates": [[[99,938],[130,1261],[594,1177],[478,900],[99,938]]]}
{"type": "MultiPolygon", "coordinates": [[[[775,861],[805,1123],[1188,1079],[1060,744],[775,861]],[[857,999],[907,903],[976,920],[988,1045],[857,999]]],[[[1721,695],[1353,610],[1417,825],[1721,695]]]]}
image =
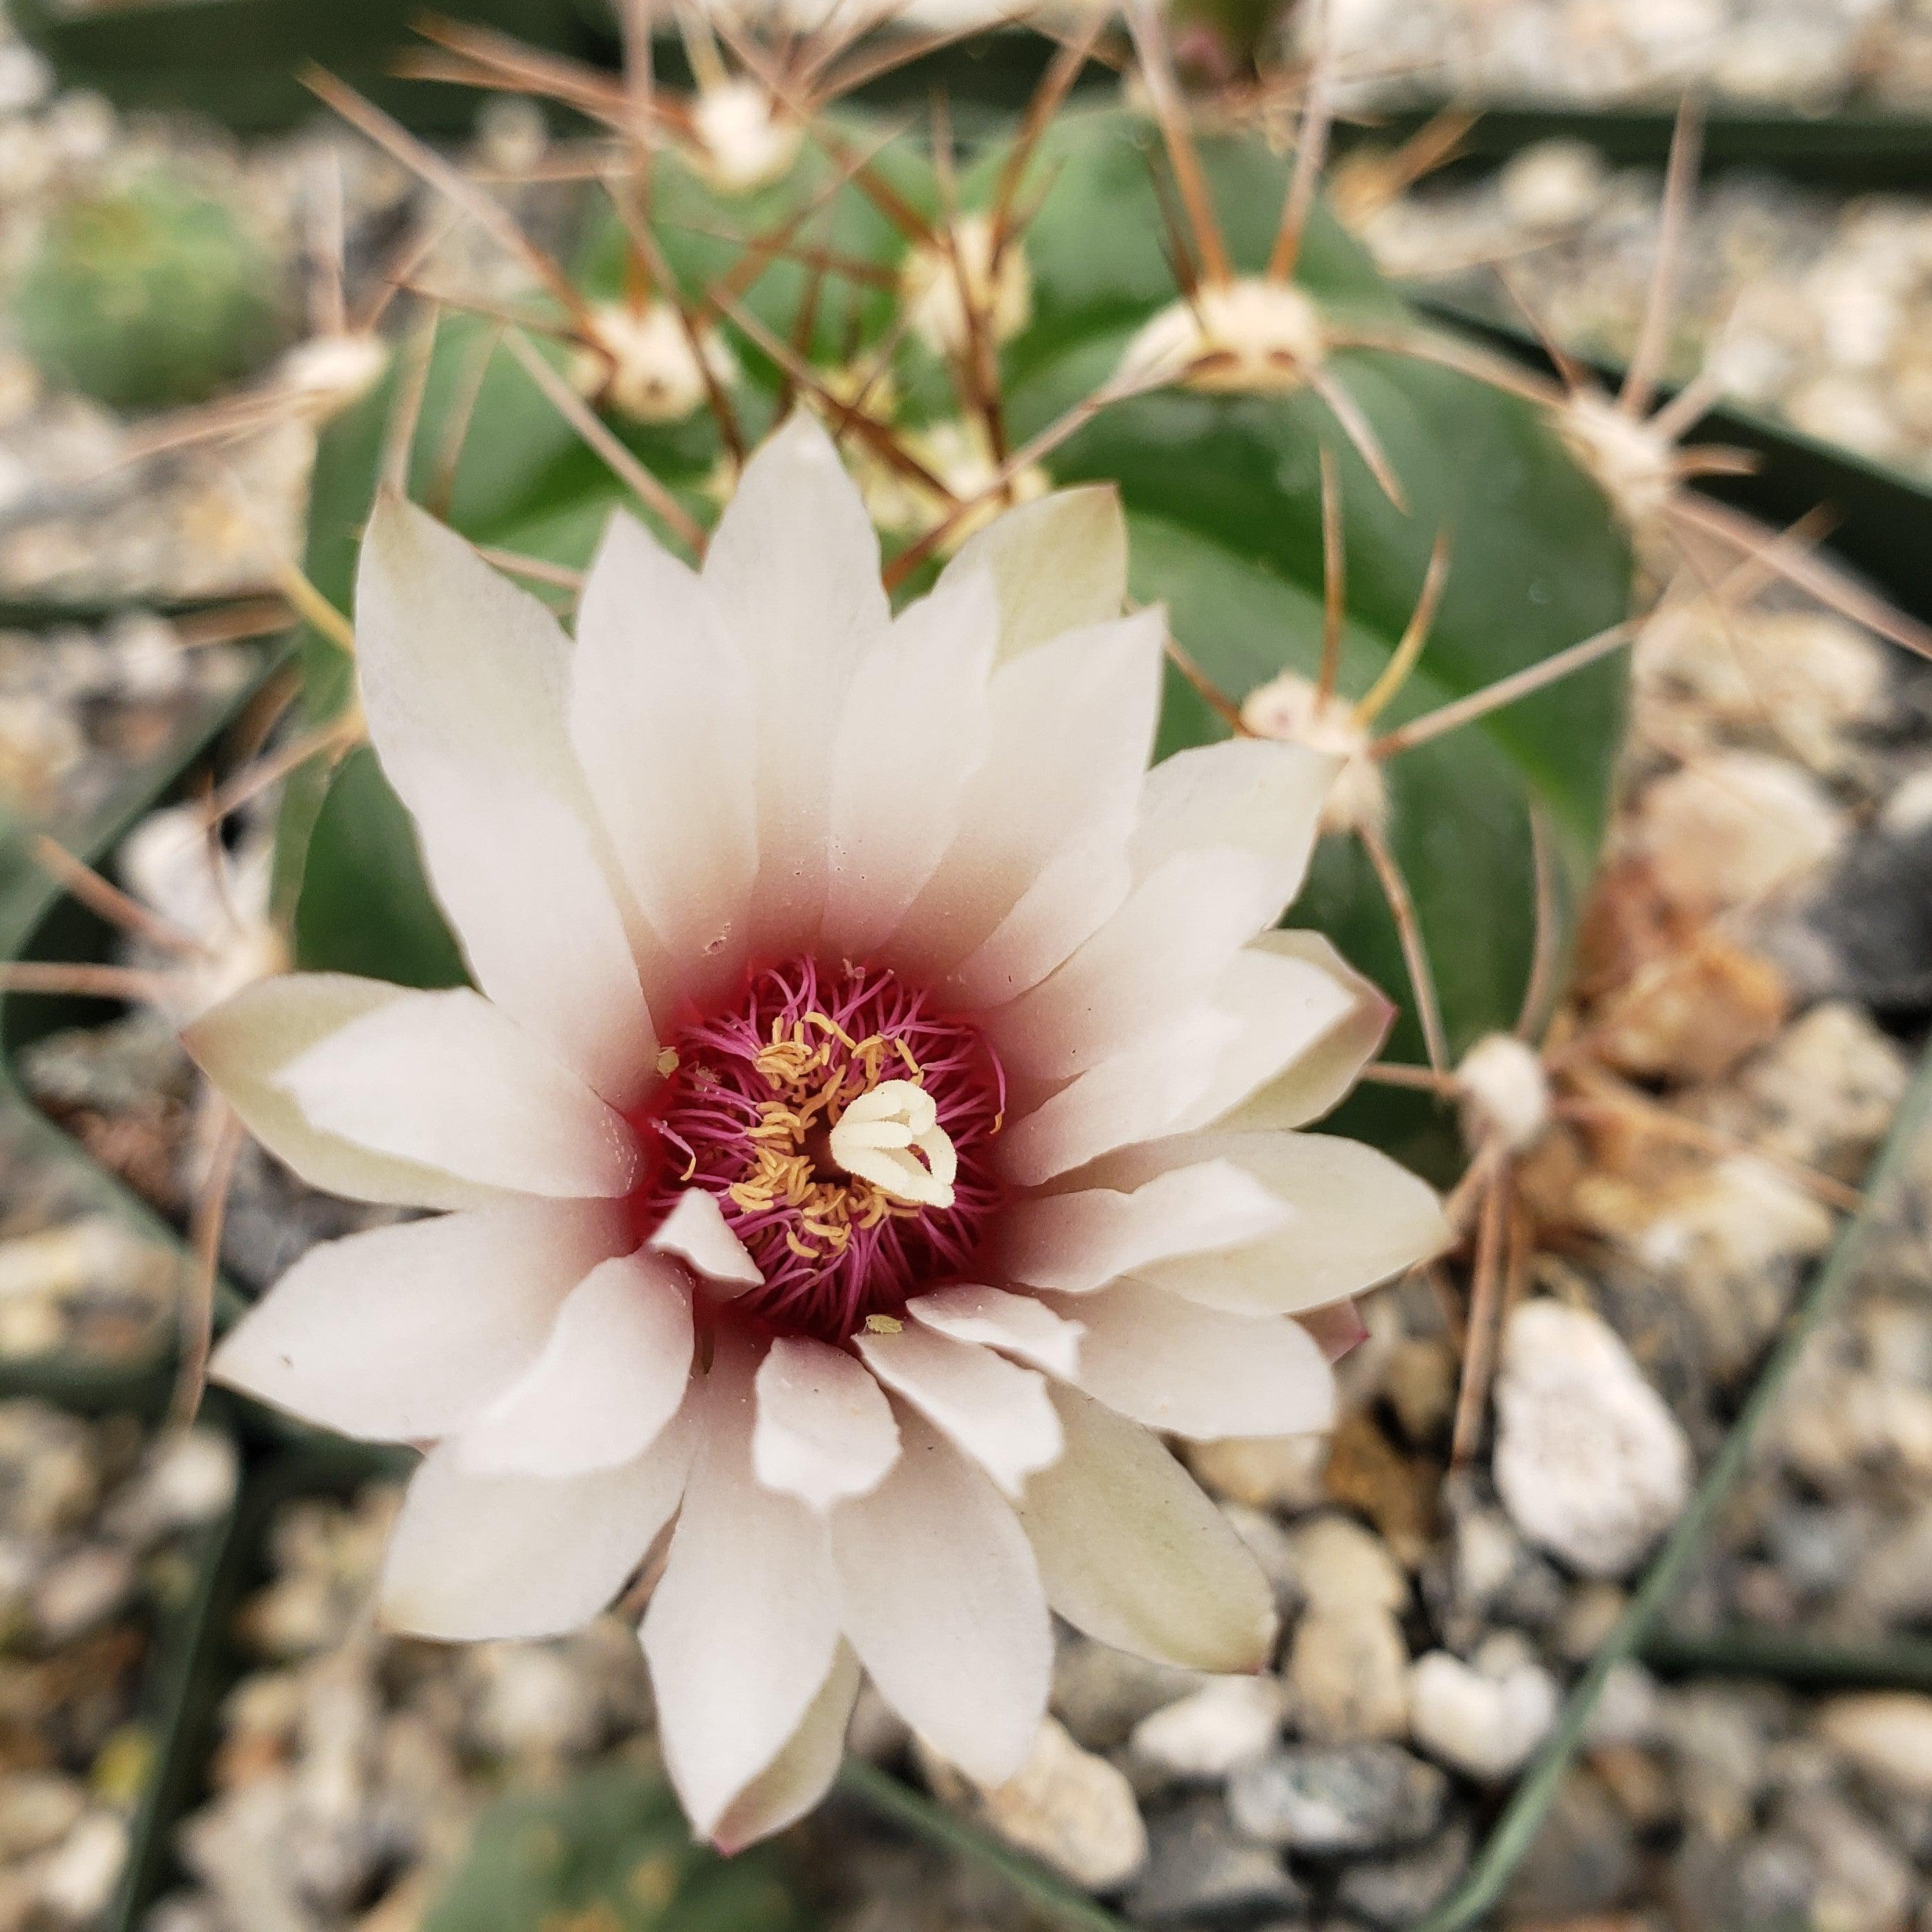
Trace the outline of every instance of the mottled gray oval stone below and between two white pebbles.
{"type": "Polygon", "coordinates": [[[1399,1745],[1291,1745],[1229,1781],[1242,1832],[1316,1859],[1416,1845],[1447,1801],[1449,1779],[1399,1745]]]}

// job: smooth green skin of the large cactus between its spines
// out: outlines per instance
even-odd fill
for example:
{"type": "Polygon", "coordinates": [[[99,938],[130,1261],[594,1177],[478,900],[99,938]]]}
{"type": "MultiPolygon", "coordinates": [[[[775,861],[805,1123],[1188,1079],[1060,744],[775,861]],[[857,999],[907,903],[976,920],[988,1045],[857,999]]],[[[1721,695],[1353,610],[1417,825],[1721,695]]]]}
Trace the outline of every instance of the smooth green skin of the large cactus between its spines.
{"type": "MultiPolygon", "coordinates": [[[[864,129],[846,126],[835,149],[856,155],[866,141],[864,129]]],[[[1005,160],[1007,153],[993,149],[968,170],[960,185],[968,209],[991,205],[1005,160]]],[[[1202,164],[1231,267],[1236,276],[1256,274],[1275,236],[1289,164],[1256,141],[1233,137],[1204,143],[1202,164]]],[[[738,261],[742,247],[719,240],[721,230],[755,236],[773,228],[786,211],[827,195],[833,166],[808,145],[784,182],[750,197],[724,197],[674,160],[661,160],[659,245],[684,288],[711,286],[738,261]]],[[[993,352],[1010,446],[1022,446],[1113,381],[1150,323],[1177,307],[1150,172],[1155,166],[1151,124],[1122,112],[1065,114],[1032,155],[1016,201],[1037,199],[1037,209],[1016,263],[1001,270],[1016,276],[1018,292],[1003,288],[989,303],[1003,321],[993,352]]],[[[767,354],[773,342],[798,344],[819,381],[840,392],[848,373],[866,365],[871,344],[896,338],[889,367],[873,371],[867,413],[885,417],[914,452],[945,458],[964,448],[966,412],[935,342],[922,340],[920,325],[929,317],[902,315],[904,303],[929,288],[918,265],[922,243],[902,230],[908,211],[933,220],[933,170],[908,145],[887,149],[875,170],[883,193],[848,182],[829,193],[811,230],[813,242],[823,240],[844,261],[867,265],[864,284],[838,288],[833,276],[781,259],[734,298],[736,311],[753,325],[752,334],[726,327],[740,365],[732,398],[746,440],[763,435],[779,410],[781,369],[767,354]]],[[[974,218],[962,216],[958,226],[974,218]]],[[[611,224],[589,238],[582,257],[587,296],[612,299],[620,269],[622,243],[611,224]]],[[[1350,330],[1389,336],[1410,327],[1395,292],[1320,207],[1293,290],[1291,309],[1298,305],[1318,328],[1343,338],[1350,330]]],[[[939,336],[943,321],[941,313],[939,336]]],[[[466,357],[479,354],[479,344],[487,348],[485,334],[471,325],[442,330],[415,444],[419,491],[433,489],[439,425],[464,392],[466,357]]],[[[556,359],[560,365],[564,352],[556,359]]],[[[1339,483],[1347,551],[1337,699],[1362,697],[1389,665],[1439,537],[1449,547],[1445,595],[1420,661],[1389,701],[1385,724],[1482,692],[1627,616],[1629,547],[1600,493],[1532,406],[1387,348],[1337,346],[1325,369],[1370,425],[1406,510],[1389,500],[1329,406],[1293,369],[1248,390],[1240,381],[1213,388],[1173,384],[1113,402],[1059,442],[1037,475],[1018,483],[1119,485],[1134,595],[1169,605],[1179,645],[1233,703],[1248,701],[1283,672],[1314,674],[1321,649],[1323,450],[1339,483]]],[[[388,390],[371,394],[328,431],[317,466],[309,566],[344,609],[386,410],[388,390]]],[[[670,425],[626,421],[614,412],[609,419],[686,508],[699,520],[715,514],[715,477],[726,446],[709,413],[670,425]]],[[[862,471],[871,464],[866,440],[846,437],[862,471]]],[[[991,464],[983,450],[954,460],[968,458],[981,471],[991,464]]],[[[893,477],[895,485],[904,481],[893,477]]],[[[906,489],[879,495],[875,514],[889,554],[922,533],[916,498],[918,491],[906,489]]],[[[582,566],[628,493],[554,417],[527,375],[498,354],[446,500],[456,527],[481,543],[582,566]]],[[[929,527],[931,512],[923,524],[929,527]]],[[[923,580],[923,570],[908,576],[908,589],[923,580]]],[[[346,661],[321,641],[313,657],[315,703],[327,713],[346,696],[346,661]]],[[[1227,728],[1182,678],[1171,678],[1163,752],[1227,728]]],[[[1538,951],[1540,896],[1544,918],[1555,920],[1542,943],[1567,941],[1604,835],[1621,732],[1623,670],[1607,661],[1406,752],[1364,781],[1378,788],[1385,844],[1414,898],[1453,1057],[1517,1020],[1538,951]],[[1532,827],[1540,827],[1551,860],[1542,895],[1540,835],[1532,827]]],[[[334,782],[336,796],[319,819],[313,796],[292,806],[286,856],[292,889],[301,881],[303,964],[444,980],[454,952],[412,854],[398,846],[400,813],[392,806],[379,811],[381,777],[352,759],[334,782]],[[357,881],[377,873],[384,875],[377,895],[383,922],[363,922],[350,947],[344,920],[327,908],[367,902],[357,881]]],[[[1422,1037],[1397,925],[1358,840],[1345,833],[1323,840],[1296,920],[1327,931],[1391,993],[1403,1018],[1389,1051],[1418,1061],[1422,1037]]],[[[1455,1159],[1447,1122],[1414,1094],[1370,1090],[1341,1119],[1345,1130],[1435,1171],[1455,1159]]]]}

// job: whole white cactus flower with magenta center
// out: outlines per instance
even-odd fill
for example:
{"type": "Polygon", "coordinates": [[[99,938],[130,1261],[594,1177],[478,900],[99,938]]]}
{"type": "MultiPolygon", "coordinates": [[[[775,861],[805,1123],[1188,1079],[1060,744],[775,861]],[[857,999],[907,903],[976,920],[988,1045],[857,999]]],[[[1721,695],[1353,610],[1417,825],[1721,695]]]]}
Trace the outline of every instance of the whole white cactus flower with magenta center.
{"type": "Polygon", "coordinates": [[[1086,489],[895,614],[804,415],[701,570],[616,516],[574,639],[384,500],[363,709],[475,989],[290,974],[187,1030],[311,1182],[440,1209],[311,1250],[214,1372],[423,1445],[394,1627],[558,1633],[655,1573],[724,1847],[825,1791],[862,1671],[997,1781],[1051,1611],[1262,1667],[1267,1582],[1161,1437],[1323,1428],[1347,1296],[1443,1242],[1300,1132],[1387,1022],[1275,929],[1333,759],[1148,771],[1163,616],[1122,601],[1086,489]]]}

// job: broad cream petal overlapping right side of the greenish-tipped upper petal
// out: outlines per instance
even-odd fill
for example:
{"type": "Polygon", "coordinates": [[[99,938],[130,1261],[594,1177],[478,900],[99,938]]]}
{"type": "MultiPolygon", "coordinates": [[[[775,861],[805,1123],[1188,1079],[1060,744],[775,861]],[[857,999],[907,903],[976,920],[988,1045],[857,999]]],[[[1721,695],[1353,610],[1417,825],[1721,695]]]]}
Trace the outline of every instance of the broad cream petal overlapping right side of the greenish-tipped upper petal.
{"type": "Polygon", "coordinates": [[[960,835],[895,947],[943,974],[1018,904],[1063,844],[1111,833],[1124,852],[1153,748],[1163,611],[1074,630],[1003,665],[993,742],[966,786],[960,835]]]}

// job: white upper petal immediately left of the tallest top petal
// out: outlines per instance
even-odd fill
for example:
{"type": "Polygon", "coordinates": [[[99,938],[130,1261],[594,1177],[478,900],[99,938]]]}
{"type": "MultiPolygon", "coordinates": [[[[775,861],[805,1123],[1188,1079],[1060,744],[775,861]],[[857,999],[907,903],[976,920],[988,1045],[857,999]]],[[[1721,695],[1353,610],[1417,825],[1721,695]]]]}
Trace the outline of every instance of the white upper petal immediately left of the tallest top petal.
{"type": "Polygon", "coordinates": [[[755,692],[696,572],[622,512],[583,580],[570,728],[638,906],[707,991],[690,968],[738,968],[757,875],[755,692]]]}

